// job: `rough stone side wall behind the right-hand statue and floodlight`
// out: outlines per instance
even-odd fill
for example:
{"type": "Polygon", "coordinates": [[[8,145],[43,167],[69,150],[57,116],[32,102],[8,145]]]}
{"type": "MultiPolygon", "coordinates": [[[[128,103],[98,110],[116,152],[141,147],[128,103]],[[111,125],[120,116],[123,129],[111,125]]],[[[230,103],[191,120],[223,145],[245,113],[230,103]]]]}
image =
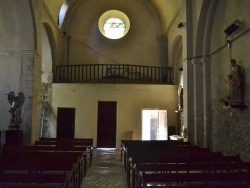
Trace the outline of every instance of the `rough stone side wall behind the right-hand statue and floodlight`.
{"type": "Polygon", "coordinates": [[[234,58],[245,71],[244,103],[249,105],[249,11],[248,0],[219,1],[211,39],[211,50],[216,52],[211,61],[212,148],[225,155],[239,154],[245,161],[250,161],[250,112],[248,108],[224,108],[221,98],[226,91],[225,80],[231,71],[230,59],[234,58]],[[233,35],[226,37],[224,29],[235,19],[244,24],[233,35]],[[227,45],[226,40],[232,43],[227,45]]]}

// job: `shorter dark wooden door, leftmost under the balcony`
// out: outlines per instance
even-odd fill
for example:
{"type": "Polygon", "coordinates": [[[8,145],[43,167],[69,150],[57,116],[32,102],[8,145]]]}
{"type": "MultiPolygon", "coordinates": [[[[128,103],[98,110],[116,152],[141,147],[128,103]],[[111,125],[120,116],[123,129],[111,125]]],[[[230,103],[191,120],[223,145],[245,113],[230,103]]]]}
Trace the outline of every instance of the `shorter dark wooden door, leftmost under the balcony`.
{"type": "Polygon", "coordinates": [[[75,108],[57,109],[57,138],[75,137],[75,108]]]}

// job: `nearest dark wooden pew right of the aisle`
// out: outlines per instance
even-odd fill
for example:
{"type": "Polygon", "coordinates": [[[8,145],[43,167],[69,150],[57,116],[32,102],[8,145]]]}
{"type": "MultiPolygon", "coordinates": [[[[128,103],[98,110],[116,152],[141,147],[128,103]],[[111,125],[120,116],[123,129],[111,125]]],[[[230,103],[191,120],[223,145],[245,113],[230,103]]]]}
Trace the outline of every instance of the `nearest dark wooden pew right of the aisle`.
{"type": "MultiPolygon", "coordinates": [[[[232,174],[233,173],[235,174],[248,173],[249,174],[249,171],[248,171],[249,166],[242,165],[241,162],[138,164],[134,168],[135,168],[135,184],[133,185],[133,187],[142,187],[143,185],[146,186],[147,183],[156,183],[156,181],[158,181],[157,178],[154,179],[155,175],[152,175],[152,177],[149,178],[148,176],[150,175],[147,175],[147,174],[165,174],[166,173],[166,174],[175,174],[176,176],[178,176],[178,174],[187,174],[187,173],[188,174],[198,174],[198,173],[218,174],[218,176],[220,176],[220,174],[223,174],[223,173],[232,173],[232,174]],[[146,180],[144,180],[145,176],[146,176],[146,180]]],[[[173,180],[167,180],[167,182],[170,184],[182,183],[183,177],[180,177],[180,179],[178,179],[178,177],[175,177],[175,175],[172,176],[173,180]]],[[[190,176],[192,177],[194,175],[190,175],[190,176]]],[[[188,175],[187,175],[187,178],[188,178],[188,175]]],[[[188,185],[191,186],[192,179],[189,179],[189,180],[190,182],[188,182],[189,183],[188,185]]],[[[219,179],[215,181],[219,182],[219,179]]],[[[245,182],[245,184],[247,183],[249,185],[249,182],[250,180],[248,181],[248,183],[245,182]]],[[[162,182],[157,182],[157,183],[164,185],[166,182],[162,181],[162,182]]],[[[205,182],[201,182],[201,183],[204,184],[205,182]]],[[[241,183],[241,182],[238,182],[238,183],[241,183]]]]}

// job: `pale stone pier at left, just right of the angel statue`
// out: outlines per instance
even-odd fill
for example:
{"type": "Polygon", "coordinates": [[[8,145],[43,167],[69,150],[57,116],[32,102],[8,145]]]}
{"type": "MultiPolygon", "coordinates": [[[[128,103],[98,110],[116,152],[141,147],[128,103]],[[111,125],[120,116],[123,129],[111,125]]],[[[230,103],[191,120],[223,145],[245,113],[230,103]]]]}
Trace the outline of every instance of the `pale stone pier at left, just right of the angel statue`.
{"type": "Polygon", "coordinates": [[[25,109],[22,129],[24,145],[30,145],[39,138],[41,105],[41,57],[34,53],[22,56],[21,90],[25,93],[25,109]]]}

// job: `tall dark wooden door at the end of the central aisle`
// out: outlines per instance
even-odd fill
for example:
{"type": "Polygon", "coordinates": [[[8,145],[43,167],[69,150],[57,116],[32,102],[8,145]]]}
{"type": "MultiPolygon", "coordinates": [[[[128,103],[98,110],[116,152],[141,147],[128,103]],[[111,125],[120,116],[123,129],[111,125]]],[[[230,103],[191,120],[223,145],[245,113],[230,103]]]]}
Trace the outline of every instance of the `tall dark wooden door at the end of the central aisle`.
{"type": "Polygon", "coordinates": [[[98,102],[97,147],[116,147],[116,102],[98,102]]]}

